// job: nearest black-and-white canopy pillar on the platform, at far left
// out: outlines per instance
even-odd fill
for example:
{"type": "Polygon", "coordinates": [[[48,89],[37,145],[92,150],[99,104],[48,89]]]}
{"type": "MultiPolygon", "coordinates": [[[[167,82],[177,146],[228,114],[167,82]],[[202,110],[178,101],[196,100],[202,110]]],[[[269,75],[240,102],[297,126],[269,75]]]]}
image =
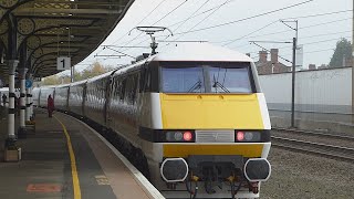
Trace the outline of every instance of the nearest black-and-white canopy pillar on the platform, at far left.
{"type": "Polygon", "coordinates": [[[14,71],[18,66],[18,60],[9,60],[9,142],[15,140],[14,135],[14,71]]]}

